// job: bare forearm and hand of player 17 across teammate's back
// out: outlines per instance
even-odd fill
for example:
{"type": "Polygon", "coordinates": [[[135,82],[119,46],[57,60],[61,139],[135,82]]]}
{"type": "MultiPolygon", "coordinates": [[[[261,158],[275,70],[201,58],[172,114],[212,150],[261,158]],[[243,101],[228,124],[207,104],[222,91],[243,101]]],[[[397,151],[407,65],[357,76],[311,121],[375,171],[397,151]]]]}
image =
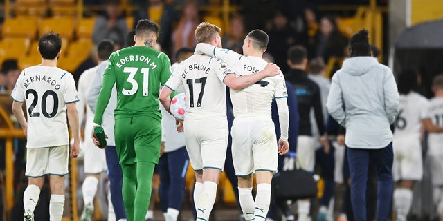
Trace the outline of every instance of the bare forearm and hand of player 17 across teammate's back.
{"type": "Polygon", "coordinates": [[[226,75],[224,78],[224,84],[229,86],[233,90],[241,90],[253,85],[255,82],[264,79],[265,77],[274,77],[280,75],[280,67],[276,64],[269,63],[263,70],[253,75],[226,75]]]}

